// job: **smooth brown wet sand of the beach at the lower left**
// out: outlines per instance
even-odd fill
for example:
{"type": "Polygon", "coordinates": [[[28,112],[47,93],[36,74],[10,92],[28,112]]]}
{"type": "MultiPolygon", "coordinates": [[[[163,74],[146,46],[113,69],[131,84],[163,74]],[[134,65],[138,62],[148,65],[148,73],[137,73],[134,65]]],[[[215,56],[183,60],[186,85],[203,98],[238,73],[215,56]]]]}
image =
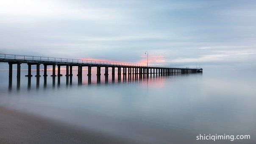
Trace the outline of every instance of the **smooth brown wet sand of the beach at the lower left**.
{"type": "Polygon", "coordinates": [[[141,143],[0,107],[0,144],[128,144],[141,143]]]}

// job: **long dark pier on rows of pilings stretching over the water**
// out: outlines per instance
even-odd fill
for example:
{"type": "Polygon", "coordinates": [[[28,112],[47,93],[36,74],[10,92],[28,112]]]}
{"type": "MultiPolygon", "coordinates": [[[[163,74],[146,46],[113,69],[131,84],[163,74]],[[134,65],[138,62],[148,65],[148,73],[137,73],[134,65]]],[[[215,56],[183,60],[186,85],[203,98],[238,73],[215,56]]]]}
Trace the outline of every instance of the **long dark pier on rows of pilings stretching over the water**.
{"type": "Polygon", "coordinates": [[[92,67],[97,67],[97,81],[100,81],[101,68],[105,68],[105,78],[109,77],[109,68],[111,69],[112,79],[115,78],[115,70],[117,68],[117,78],[121,79],[121,75],[124,78],[128,75],[146,76],[148,75],[170,75],[174,73],[186,74],[186,73],[196,73],[203,72],[202,68],[183,68],[183,67],[173,67],[173,66],[160,66],[160,65],[145,65],[145,64],[132,64],[132,63],[120,63],[120,62],[108,62],[108,61],[89,61],[81,59],[69,59],[69,58],[53,58],[53,57],[42,57],[42,56],[30,56],[30,55],[11,55],[11,54],[0,54],[0,62],[5,62],[9,64],[9,77],[12,77],[12,69],[14,65],[17,65],[17,77],[20,78],[20,68],[21,64],[28,65],[28,75],[26,77],[31,77],[31,65],[36,65],[36,75],[35,77],[40,77],[40,65],[44,66],[44,77],[47,77],[47,67],[52,66],[52,77],[62,76],[60,68],[61,66],[66,67],[66,75],[72,77],[72,68],[74,66],[78,67],[78,80],[81,83],[82,80],[82,69],[83,67],[88,68],[88,78],[92,76],[92,67]],[[56,75],[56,66],[58,66],[58,71],[56,75]]]}

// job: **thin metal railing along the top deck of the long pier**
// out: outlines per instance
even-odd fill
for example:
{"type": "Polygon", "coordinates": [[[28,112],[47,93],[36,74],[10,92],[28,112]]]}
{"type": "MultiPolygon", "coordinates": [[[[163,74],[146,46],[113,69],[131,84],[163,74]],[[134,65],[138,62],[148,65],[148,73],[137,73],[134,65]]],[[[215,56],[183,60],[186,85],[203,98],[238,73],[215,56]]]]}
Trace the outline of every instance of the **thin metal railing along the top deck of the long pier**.
{"type": "MultiPolygon", "coordinates": [[[[72,64],[103,64],[103,65],[114,65],[114,66],[147,66],[146,64],[134,64],[134,63],[120,63],[120,62],[109,62],[109,61],[91,61],[81,59],[70,59],[70,58],[53,58],[44,56],[31,56],[31,55],[11,55],[0,53],[0,59],[6,60],[24,60],[24,61],[40,61],[40,62],[64,62],[72,64]]],[[[179,66],[162,66],[162,65],[148,65],[147,67],[159,67],[159,68],[184,68],[179,66]]],[[[195,68],[200,69],[200,68],[195,68]]]]}

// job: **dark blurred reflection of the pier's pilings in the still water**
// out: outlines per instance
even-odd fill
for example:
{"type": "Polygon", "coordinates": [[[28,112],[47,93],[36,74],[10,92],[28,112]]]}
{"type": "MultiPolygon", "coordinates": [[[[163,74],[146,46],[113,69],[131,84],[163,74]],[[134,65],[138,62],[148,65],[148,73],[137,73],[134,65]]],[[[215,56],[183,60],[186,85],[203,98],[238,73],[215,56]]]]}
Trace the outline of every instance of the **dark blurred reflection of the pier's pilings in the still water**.
{"type": "MultiPolygon", "coordinates": [[[[22,72],[25,73],[25,72],[22,72]]],[[[96,75],[96,74],[92,74],[96,75]]],[[[181,75],[202,75],[202,73],[196,73],[196,74],[127,74],[123,75],[120,78],[118,75],[97,75],[96,77],[92,77],[91,75],[69,75],[69,76],[56,76],[56,77],[50,77],[50,76],[42,76],[42,77],[9,77],[8,82],[8,89],[13,89],[13,80],[17,80],[15,83],[17,86],[17,90],[20,89],[20,83],[22,79],[22,85],[24,85],[24,81],[27,81],[27,89],[31,89],[31,81],[35,81],[35,88],[39,89],[41,84],[44,89],[47,89],[49,85],[52,85],[54,88],[56,85],[57,80],[57,86],[61,86],[65,83],[66,86],[72,86],[72,85],[90,85],[90,84],[114,84],[114,83],[126,83],[126,82],[145,82],[148,81],[148,79],[152,79],[150,81],[154,81],[157,79],[163,79],[165,77],[172,77],[177,78],[181,75]]]]}

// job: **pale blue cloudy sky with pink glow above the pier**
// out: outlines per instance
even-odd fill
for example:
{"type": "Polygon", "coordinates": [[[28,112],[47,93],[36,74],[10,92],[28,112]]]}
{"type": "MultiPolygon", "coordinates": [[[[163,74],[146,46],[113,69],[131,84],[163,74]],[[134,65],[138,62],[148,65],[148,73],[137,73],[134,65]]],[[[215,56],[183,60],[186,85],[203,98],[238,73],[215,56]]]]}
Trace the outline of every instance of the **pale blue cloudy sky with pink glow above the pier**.
{"type": "Polygon", "coordinates": [[[0,0],[6,54],[239,71],[255,40],[255,0],[0,0]]]}

